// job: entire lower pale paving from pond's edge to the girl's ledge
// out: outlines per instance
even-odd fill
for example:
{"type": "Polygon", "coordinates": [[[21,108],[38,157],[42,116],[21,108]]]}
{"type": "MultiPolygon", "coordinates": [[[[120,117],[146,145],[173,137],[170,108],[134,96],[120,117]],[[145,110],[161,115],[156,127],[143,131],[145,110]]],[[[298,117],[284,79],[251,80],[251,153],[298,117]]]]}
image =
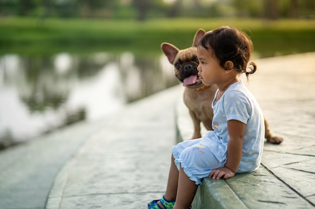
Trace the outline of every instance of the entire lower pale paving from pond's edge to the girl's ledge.
{"type": "Polygon", "coordinates": [[[0,209],[145,208],[166,188],[181,88],[0,152],[0,209]]]}

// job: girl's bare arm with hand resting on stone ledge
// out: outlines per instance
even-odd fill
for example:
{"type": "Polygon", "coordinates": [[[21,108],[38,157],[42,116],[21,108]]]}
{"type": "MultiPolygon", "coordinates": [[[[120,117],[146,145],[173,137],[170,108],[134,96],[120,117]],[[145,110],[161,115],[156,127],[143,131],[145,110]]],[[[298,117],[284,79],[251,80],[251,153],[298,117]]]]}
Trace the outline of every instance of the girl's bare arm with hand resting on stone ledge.
{"type": "Polygon", "coordinates": [[[210,178],[220,179],[223,177],[223,179],[227,179],[234,176],[241,163],[245,128],[246,124],[241,121],[227,121],[229,141],[227,144],[226,163],[224,167],[213,169],[209,175],[210,178]]]}

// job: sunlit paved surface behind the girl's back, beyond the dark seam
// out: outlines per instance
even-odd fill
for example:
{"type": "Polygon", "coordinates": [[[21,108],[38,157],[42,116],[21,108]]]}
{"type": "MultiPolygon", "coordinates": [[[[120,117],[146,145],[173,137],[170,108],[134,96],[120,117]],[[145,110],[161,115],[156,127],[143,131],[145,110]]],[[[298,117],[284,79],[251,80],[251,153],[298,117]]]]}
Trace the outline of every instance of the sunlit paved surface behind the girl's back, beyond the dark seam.
{"type": "Polygon", "coordinates": [[[308,201],[307,208],[313,208],[315,53],[269,58],[257,64],[264,66],[264,71],[254,78],[250,89],[257,95],[271,130],[285,138],[280,146],[265,144],[262,163],[308,201]]]}

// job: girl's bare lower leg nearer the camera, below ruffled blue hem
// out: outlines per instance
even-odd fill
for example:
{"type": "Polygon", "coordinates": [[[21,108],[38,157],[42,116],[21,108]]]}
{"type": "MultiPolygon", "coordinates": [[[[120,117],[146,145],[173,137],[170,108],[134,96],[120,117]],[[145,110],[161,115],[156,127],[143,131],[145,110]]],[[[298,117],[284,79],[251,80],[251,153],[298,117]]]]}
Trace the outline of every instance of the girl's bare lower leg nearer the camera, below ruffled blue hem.
{"type": "Polygon", "coordinates": [[[196,182],[190,180],[184,172],[184,169],[181,167],[179,171],[178,192],[174,209],[188,209],[194,200],[197,188],[198,185],[196,185],[196,182]]]}

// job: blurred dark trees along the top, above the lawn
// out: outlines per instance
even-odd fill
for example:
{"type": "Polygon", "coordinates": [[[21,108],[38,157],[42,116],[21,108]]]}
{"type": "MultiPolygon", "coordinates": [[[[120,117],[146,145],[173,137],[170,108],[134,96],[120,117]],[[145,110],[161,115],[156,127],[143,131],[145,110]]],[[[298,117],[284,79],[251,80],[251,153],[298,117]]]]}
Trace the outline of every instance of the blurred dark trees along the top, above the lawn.
{"type": "Polygon", "coordinates": [[[0,0],[1,16],[314,18],[313,0],[0,0]]]}

